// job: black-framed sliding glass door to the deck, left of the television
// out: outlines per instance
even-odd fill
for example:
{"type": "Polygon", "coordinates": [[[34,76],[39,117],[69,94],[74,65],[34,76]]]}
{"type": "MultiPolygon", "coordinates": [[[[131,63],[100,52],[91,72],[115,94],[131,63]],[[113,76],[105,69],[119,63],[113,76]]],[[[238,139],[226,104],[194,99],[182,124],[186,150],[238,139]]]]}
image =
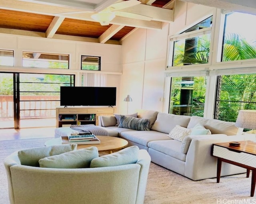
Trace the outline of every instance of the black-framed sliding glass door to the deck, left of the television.
{"type": "Polygon", "coordinates": [[[74,75],[0,73],[0,128],[55,126],[60,86],[74,75]]]}

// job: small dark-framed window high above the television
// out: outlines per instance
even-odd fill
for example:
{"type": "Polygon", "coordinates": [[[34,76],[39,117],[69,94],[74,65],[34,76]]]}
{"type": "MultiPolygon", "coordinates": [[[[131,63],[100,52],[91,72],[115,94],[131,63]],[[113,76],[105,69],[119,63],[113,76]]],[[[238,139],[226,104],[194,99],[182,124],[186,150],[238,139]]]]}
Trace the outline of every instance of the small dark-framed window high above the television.
{"type": "Polygon", "coordinates": [[[82,55],[81,69],[100,71],[100,57],[82,55]]]}

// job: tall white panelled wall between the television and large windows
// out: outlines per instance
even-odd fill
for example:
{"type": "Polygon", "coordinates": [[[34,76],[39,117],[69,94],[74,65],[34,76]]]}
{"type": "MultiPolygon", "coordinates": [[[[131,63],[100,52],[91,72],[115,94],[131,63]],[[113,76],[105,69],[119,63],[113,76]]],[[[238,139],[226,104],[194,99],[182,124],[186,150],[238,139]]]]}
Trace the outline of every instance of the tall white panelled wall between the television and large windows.
{"type": "Polygon", "coordinates": [[[128,112],[138,109],[162,111],[164,70],[169,24],[161,30],[136,29],[122,41],[123,75],[120,81],[120,113],[126,114],[124,98],[132,97],[128,112]]]}

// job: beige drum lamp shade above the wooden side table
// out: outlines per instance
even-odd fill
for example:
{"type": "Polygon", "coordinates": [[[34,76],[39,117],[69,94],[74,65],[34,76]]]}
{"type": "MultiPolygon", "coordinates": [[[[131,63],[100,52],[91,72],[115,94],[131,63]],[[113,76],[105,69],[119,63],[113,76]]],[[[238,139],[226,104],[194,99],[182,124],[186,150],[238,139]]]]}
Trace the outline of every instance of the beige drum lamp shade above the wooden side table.
{"type": "Polygon", "coordinates": [[[256,110],[240,110],[235,126],[245,129],[256,129],[256,110]]]}

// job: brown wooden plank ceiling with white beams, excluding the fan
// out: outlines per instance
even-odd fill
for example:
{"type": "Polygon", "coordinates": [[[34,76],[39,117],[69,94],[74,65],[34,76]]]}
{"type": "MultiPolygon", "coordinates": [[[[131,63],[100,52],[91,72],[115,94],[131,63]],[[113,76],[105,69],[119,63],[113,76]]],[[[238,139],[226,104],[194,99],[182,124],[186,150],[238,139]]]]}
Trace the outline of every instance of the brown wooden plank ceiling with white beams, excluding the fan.
{"type": "MultiPolygon", "coordinates": [[[[0,0],[0,33],[119,44],[120,39],[136,27],[161,29],[164,22],[172,22],[175,0],[140,2],[142,7],[137,9],[139,14],[142,11],[148,12],[147,16],[152,17],[152,21],[118,16],[108,26],[101,26],[90,18],[90,13],[58,15],[81,11],[78,8],[31,3],[26,0],[0,0]]],[[[136,10],[127,11],[138,14],[136,10]]],[[[141,14],[145,15],[144,13],[141,14]]]]}

